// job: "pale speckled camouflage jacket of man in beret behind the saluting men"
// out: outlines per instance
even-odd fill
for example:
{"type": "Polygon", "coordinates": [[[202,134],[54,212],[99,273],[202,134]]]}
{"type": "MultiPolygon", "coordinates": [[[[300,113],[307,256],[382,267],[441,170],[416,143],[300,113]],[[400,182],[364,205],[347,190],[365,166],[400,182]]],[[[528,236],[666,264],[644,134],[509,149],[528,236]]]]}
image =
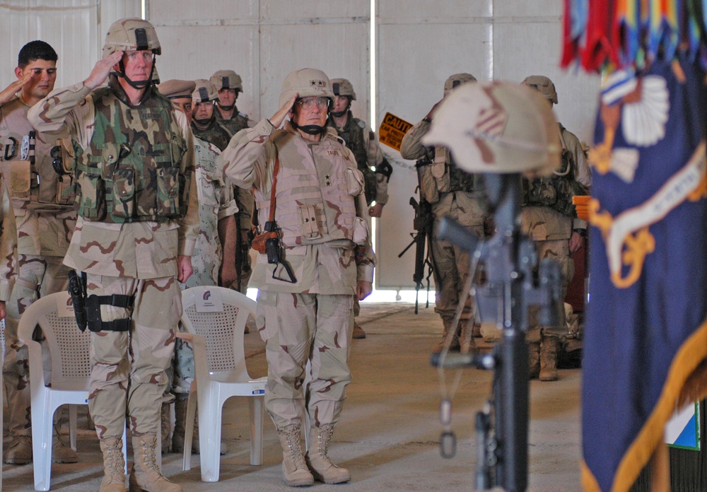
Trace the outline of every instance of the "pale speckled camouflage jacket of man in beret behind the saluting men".
{"type": "Polygon", "coordinates": [[[238,212],[233,199],[233,187],[226,185],[223,174],[216,168],[216,156],[219,153],[214,144],[194,137],[201,230],[192,255],[194,274],[187,279],[184,288],[218,285],[218,271],[223,258],[218,221],[238,212]]]}

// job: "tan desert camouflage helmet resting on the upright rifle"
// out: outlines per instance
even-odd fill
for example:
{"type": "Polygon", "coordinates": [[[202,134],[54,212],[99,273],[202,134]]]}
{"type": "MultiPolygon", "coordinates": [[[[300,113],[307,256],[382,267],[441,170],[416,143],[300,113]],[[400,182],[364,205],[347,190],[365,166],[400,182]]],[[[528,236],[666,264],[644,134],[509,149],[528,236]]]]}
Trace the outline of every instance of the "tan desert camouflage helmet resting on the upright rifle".
{"type": "Polygon", "coordinates": [[[436,111],[425,145],[447,146],[469,172],[549,174],[560,162],[557,124],[547,102],[515,83],[457,88],[436,111]]]}

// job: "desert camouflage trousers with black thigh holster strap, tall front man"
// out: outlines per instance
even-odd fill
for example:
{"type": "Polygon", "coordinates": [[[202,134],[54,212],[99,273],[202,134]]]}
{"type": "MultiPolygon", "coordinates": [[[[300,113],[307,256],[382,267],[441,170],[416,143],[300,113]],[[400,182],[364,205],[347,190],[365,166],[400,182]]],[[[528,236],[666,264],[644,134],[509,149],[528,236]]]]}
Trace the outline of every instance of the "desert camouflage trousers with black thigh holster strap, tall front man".
{"type": "Polygon", "coordinates": [[[167,387],[165,371],[182,314],[179,283],[174,277],[141,280],[88,274],[86,291],[134,295],[132,307],[100,308],[104,322],[132,317],[129,332],[91,334],[88,411],[98,438],[119,438],[126,418],[133,435],[156,434],[167,387]]]}

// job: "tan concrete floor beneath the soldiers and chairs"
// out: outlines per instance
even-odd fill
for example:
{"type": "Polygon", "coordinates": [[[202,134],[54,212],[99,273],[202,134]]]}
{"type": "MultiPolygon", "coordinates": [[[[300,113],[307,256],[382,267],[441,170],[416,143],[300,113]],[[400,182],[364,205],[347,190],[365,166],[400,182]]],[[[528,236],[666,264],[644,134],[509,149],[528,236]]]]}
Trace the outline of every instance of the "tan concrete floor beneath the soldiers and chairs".
{"type": "MultiPolygon", "coordinates": [[[[354,341],[349,385],[341,422],[329,455],[347,467],[351,483],[317,491],[469,491],[473,490],[476,436],[474,414],[489,398],[491,373],[463,370],[454,394],[452,429],[457,453],[440,457],[438,417],[440,383],[429,365],[429,351],[442,324],[432,307],[405,303],[361,304],[359,322],[368,337],[354,341]]],[[[255,333],[246,335],[252,377],[267,372],[264,345],[255,333]]],[[[447,372],[450,387],[456,371],[447,372]]],[[[580,491],[580,370],[561,370],[558,382],[530,385],[530,486],[533,492],[580,491]]],[[[230,454],[221,458],[221,479],[200,481],[199,456],[182,472],[181,455],[163,457],[165,474],[185,491],[288,491],[281,479],[281,452],[274,426],[266,415],[264,464],[250,466],[247,404],[226,404],[223,435],[230,454]]],[[[52,467],[52,490],[97,491],[103,467],[95,433],[79,421],[78,464],[52,467]]],[[[33,491],[33,468],[4,465],[4,491],[33,491]]]]}

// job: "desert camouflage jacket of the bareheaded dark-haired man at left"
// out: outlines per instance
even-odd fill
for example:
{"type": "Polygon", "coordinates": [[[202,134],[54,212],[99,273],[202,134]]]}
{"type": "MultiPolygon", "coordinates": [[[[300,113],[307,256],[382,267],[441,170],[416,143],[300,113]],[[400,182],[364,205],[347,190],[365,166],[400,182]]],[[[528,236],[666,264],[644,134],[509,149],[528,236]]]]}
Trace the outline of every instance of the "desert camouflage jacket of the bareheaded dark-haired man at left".
{"type": "MultiPolygon", "coordinates": [[[[74,200],[61,198],[63,188],[60,186],[59,175],[52,168],[51,151],[60,142],[33,128],[27,119],[29,109],[22,98],[17,96],[0,106],[0,167],[15,211],[18,252],[62,257],[69,247],[71,233],[74,232],[74,200]],[[13,168],[12,175],[10,172],[11,166],[18,165],[21,161],[28,162],[30,131],[35,131],[35,168],[39,173],[37,195],[32,200],[28,197],[32,191],[29,167],[13,168]],[[13,141],[16,142],[16,148],[14,156],[11,156],[13,141]],[[24,170],[26,174],[18,172],[18,169],[24,170]],[[40,213],[54,225],[41,228],[40,213]]],[[[68,177],[64,179],[69,181],[68,177]]]]}

